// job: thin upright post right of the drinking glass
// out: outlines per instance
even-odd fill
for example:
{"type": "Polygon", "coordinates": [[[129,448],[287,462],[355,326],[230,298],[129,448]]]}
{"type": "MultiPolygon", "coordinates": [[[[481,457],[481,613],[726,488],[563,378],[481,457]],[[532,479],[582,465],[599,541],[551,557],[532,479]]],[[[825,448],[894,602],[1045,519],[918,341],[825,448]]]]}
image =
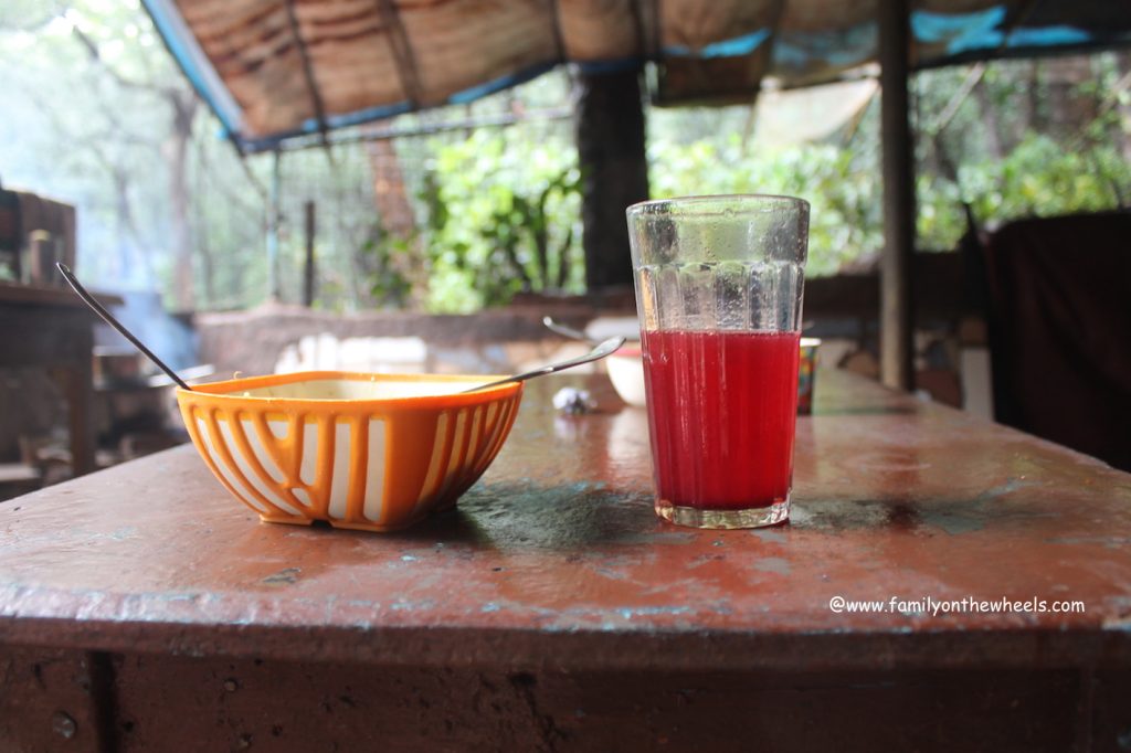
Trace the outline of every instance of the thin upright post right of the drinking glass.
{"type": "Polygon", "coordinates": [[[912,254],[915,250],[915,156],[908,112],[907,0],[881,0],[880,107],[883,140],[883,265],[880,287],[880,379],[915,386],[912,254]]]}

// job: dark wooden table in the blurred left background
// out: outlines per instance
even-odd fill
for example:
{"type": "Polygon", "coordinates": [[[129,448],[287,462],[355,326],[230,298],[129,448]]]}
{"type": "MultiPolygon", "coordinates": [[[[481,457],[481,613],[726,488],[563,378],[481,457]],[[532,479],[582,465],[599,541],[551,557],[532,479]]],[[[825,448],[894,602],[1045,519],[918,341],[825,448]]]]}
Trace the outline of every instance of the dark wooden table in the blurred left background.
{"type": "MultiPolygon", "coordinates": [[[[106,305],[116,296],[100,295],[106,305]]],[[[67,399],[71,468],[94,470],[94,314],[69,289],[0,283],[0,367],[44,366],[67,399]]]]}

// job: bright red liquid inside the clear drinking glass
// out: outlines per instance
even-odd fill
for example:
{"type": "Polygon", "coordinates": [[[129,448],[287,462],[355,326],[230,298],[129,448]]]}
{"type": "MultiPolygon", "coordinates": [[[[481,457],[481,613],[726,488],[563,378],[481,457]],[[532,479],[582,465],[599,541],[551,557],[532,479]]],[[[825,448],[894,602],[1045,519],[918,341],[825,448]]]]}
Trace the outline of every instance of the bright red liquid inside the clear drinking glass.
{"type": "Polygon", "coordinates": [[[797,332],[644,332],[662,500],[705,510],[782,502],[793,477],[797,332]]]}

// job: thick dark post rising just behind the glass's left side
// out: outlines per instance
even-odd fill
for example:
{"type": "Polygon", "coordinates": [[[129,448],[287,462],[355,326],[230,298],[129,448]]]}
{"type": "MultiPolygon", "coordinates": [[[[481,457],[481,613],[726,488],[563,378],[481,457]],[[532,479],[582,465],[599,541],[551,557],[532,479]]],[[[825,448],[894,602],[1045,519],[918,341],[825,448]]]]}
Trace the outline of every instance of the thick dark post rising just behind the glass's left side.
{"type": "Polygon", "coordinates": [[[624,209],[648,198],[640,70],[578,76],[581,240],[589,292],[632,285],[624,209]]]}

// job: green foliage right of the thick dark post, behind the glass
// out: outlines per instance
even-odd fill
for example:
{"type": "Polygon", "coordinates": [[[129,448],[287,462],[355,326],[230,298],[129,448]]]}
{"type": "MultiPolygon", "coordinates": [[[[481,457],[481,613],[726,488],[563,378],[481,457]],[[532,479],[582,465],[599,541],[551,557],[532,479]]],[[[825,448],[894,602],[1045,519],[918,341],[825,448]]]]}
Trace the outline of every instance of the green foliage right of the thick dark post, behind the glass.
{"type": "MultiPolygon", "coordinates": [[[[1056,132],[1050,122],[1045,112],[1050,88],[1036,63],[1000,62],[987,67],[978,96],[961,103],[938,142],[927,131],[969,69],[918,75],[918,249],[956,248],[966,231],[964,202],[979,223],[993,226],[1018,217],[1096,211],[1131,201],[1131,165],[1125,156],[1131,152],[1131,120],[1120,110],[1126,106],[1124,99],[1131,103],[1131,93],[1115,89],[1120,69],[1113,58],[1096,57],[1089,66],[1095,79],[1069,92],[1082,120],[1068,132],[1056,132]],[[1034,106],[1034,112],[1026,112],[1034,106]],[[948,158],[958,164],[957,176],[948,175],[948,158]]],[[[743,145],[733,110],[653,111],[648,152],[653,196],[804,197],[812,205],[810,276],[836,274],[843,263],[881,250],[883,185],[874,104],[848,138],[775,148],[760,147],[757,133],[743,145]],[[708,118],[729,127],[715,135],[701,123],[696,127],[708,118]]]]}

